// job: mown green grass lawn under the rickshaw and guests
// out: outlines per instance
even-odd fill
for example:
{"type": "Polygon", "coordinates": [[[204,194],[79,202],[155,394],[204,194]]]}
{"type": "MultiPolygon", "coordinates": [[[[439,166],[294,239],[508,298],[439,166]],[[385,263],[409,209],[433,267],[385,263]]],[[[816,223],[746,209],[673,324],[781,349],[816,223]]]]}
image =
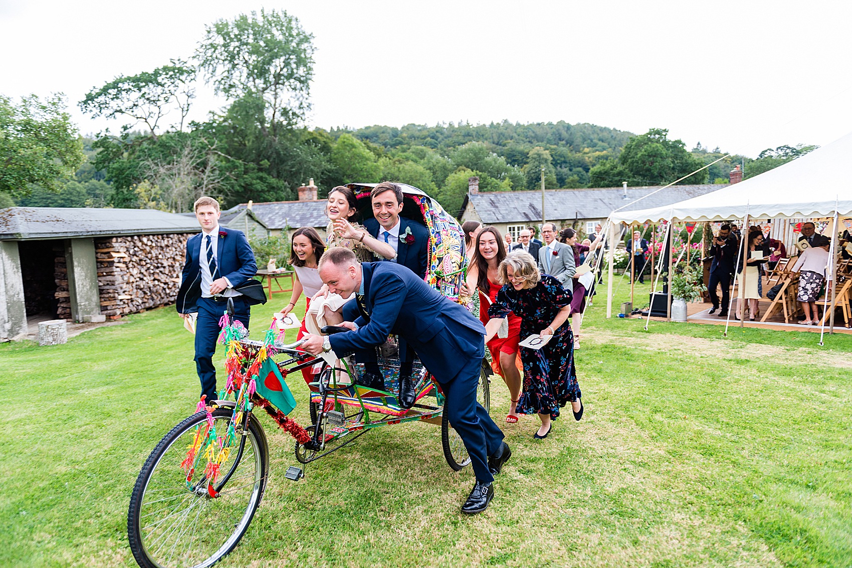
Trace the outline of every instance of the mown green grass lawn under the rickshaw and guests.
{"type": "MultiPolygon", "coordinates": [[[[604,319],[601,291],[576,355],[583,420],[566,412],[533,440],[537,419],[505,425],[508,391],[492,381],[513,456],[486,513],[458,513],[474,479],[447,467],[437,426],[379,428],[293,483],[293,441],[259,413],[271,479],[220,565],[852,565],[852,337],[645,332],[604,319]]],[[[253,310],[255,337],[288,300],[253,310]]],[[[0,345],[0,566],[135,565],[130,490],[193,413],[199,380],[174,308],[127,321],[67,345],[0,345]]],[[[299,374],[291,385],[306,424],[307,388],[299,374]]]]}

